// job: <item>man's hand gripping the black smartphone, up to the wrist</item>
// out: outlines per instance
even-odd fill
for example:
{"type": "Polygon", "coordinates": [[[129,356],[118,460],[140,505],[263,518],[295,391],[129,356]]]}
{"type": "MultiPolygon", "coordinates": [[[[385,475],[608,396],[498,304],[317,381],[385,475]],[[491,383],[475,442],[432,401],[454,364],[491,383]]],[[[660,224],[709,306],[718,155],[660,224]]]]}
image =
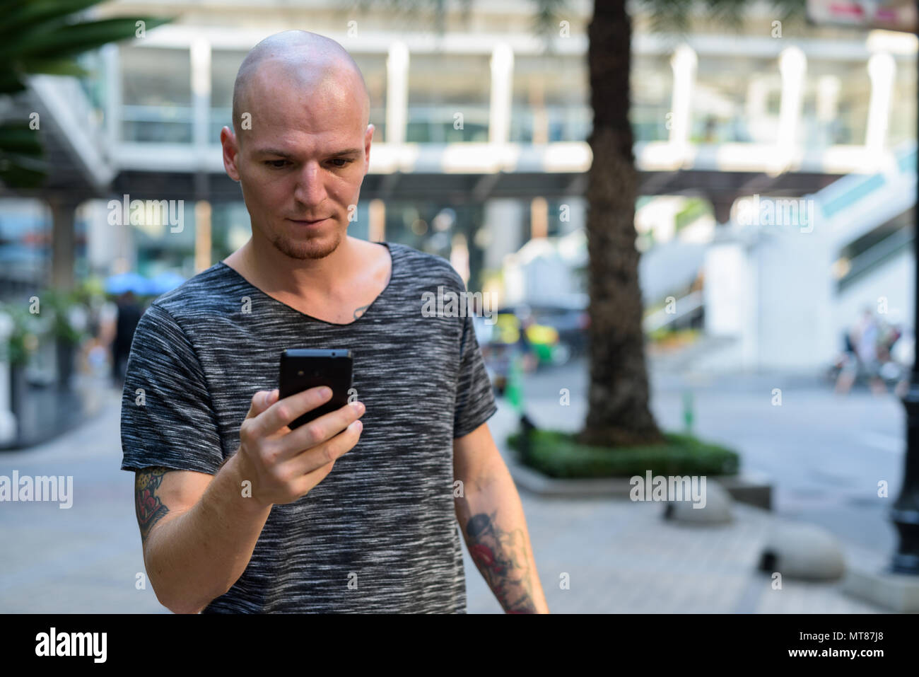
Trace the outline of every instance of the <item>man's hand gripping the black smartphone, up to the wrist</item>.
{"type": "Polygon", "coordinates": [[[351,402],[294,430],[288,424],[332,398],[320,386],[278,399],[278,389],[255,393],[239,430],[239,465],[252,498],[268,507],[306,496],[332,472],[335,460],[360,439],[365,407],[351,402]]]}

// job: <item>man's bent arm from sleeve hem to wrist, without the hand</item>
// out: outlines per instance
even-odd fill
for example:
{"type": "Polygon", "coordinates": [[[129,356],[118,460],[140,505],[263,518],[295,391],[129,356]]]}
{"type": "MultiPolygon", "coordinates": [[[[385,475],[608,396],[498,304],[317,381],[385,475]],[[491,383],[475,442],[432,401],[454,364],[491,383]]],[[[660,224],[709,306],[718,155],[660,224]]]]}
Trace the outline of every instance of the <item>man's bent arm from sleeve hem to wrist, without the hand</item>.
{"type": "Polygon", "coordinates": [[[156,598],[197,614],[243,575],[271,506],[243,496],[239,454],[217,475],[162,467],[137,471],[143,562],[156,598]]]}

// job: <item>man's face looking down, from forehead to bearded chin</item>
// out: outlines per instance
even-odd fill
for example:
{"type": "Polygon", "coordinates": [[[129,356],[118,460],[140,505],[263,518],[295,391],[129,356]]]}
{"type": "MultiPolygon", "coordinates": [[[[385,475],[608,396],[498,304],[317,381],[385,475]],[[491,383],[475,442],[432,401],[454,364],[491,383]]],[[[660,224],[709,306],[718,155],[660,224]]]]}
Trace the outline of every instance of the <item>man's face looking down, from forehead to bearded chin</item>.
{"type": "Polygon", "coordinates": [[[331,254],[346,237],[349,207],[357,209],[374,128],[363,126],[354,85],[340,77],[304,87],[267,64],[243,111],[252,128],[236,120],[242,139],[221,132],[224,166],[240,181],[253,236],[291,258],[331,254]]]}

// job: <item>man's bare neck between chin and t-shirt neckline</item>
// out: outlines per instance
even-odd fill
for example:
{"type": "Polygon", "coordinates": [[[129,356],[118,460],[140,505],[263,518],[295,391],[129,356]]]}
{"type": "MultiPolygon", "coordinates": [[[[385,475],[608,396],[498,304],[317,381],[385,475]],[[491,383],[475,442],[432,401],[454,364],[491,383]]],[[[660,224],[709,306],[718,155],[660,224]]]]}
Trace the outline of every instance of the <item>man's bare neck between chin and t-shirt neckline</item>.
{"type": "Polygon", "coordinates": [[[328,298],[351,279],[357,250],[345,236],[324,258],[290,258],[271,243],[251,238],[224,263],[269,295],[328,298]]]}

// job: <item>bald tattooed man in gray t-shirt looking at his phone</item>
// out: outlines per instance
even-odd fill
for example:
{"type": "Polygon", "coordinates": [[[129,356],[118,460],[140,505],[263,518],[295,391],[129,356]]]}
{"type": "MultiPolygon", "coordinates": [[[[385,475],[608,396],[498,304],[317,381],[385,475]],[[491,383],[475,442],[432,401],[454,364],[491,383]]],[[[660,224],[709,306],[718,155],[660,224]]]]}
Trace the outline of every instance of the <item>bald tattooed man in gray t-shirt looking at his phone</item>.
{"type": "Polygon", "coordinates": [[[458,522],[506,612],[549,611],[471,316],[423,311],[464,282],[347,235],[373,131],[335,40],[285,31],[240,66],[221,144],[252,237],[150,306],[122,400],[144,563],[176,613],[465,613],[458,522]],[[291,430],[330,393],[278,398],[287,348],[351,350],[356,401],[291,430]]]}

